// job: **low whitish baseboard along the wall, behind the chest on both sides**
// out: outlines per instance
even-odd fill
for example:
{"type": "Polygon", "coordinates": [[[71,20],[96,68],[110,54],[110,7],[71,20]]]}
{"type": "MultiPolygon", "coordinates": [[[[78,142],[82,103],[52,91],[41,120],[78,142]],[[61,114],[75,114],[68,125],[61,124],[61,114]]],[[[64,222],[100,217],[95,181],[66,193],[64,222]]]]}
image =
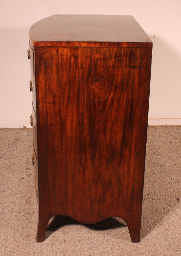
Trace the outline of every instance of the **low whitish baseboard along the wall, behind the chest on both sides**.
{"type": "MultiPolygon", "coordinates": [[[[150,118],[148,125],[181,125],[181,118],[150,118]]],[[[30,121],[0,121],[0,128],[31,128],[30,121]]]]}

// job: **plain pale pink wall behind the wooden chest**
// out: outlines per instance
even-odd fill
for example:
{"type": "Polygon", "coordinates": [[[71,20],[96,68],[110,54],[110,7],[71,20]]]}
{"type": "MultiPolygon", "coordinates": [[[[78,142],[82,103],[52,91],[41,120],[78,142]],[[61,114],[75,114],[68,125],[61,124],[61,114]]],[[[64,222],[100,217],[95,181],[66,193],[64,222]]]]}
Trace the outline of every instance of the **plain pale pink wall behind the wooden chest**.
{"type": "Polygon", "coordinates": [[[0,127],[30,127],[28,30],[53,14],[133,15],[153,41],[149,124],[181,125],[180,0],[7,0],[0,10],[0,127]]]}

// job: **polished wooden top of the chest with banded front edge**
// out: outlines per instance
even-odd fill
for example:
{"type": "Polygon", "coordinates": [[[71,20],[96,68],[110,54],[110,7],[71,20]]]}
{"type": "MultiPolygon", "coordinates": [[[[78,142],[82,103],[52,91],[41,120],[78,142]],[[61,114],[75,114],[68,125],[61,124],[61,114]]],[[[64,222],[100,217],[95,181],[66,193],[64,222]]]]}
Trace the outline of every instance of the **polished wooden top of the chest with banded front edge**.
{"type": "Polygon", "coordinates": [[[152,47],[130,15],[52,15],[29,30],[33,46],[152,47]]]}

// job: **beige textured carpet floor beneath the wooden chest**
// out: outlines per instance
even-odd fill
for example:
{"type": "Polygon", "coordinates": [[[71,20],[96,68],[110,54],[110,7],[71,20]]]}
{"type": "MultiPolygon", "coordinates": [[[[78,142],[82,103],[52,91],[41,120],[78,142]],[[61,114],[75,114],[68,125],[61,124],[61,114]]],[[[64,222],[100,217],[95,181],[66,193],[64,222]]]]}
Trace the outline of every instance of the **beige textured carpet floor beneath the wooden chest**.
{"type": "Polygon", "coordinates": [[[51,219],[35,242],[37,201],[31,129],[0,129],[0,255],[181,255],[181,126],[148,127],[141,241],[119,218],[83,225],[51,219]]]}

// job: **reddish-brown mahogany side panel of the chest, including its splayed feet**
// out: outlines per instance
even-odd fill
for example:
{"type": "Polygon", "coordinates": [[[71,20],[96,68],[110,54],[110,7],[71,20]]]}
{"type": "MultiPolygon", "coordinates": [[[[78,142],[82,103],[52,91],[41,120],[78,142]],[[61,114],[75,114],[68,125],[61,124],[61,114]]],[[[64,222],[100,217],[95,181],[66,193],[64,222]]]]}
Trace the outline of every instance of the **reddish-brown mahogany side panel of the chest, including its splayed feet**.
{"type": "Polygon", "coordinates": [[[34,47],[38,242],[59,214],[87,224],[118,216],[140,239],[151,41],[95,45],[34,47]]]}

